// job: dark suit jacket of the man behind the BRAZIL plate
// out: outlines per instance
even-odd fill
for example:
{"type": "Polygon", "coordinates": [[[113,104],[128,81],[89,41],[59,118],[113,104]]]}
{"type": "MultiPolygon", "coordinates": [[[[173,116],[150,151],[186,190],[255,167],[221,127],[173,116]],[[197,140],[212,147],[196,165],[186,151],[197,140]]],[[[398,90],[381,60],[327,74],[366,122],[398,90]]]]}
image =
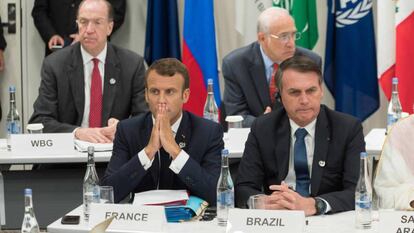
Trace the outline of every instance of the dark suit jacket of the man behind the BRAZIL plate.
{"type": "MultiPolygon", "coordinates": [[[[285,180],[289,169],[290,135],[284,108],[258,117],[253,123],[236,181],[238,207],[245,207],[251,195],[270,194],[269,185],[285,180]]],[[[365,151],[365,142],[361,123],[321,105],[315,129],[311,196],[325,199],[332,213],[354,209],[362,151],[365,151]]]]}

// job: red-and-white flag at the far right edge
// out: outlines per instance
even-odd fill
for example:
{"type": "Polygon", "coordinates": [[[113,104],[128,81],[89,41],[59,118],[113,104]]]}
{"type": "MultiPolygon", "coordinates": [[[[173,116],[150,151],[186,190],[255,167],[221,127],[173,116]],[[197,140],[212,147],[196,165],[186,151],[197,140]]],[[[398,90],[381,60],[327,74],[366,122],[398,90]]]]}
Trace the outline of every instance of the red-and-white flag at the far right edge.
{"type": "Polygon", "coordinates": [[[378,78],[388,99],[391,79],[398,78],[404,112],[413,113],[414,103],[414,1],[378,1],[378,78]]]}

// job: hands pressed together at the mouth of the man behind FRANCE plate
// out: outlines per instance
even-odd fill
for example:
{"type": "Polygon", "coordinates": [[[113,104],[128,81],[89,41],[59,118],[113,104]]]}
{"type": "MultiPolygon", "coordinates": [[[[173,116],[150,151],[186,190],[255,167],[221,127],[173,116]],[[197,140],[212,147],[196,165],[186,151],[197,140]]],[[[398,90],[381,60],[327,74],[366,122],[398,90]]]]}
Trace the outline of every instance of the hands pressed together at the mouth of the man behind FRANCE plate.
{"type": "Polygon", "coordinates": [[[181,149],[175,142],[173,131],[171,130],[171,122],[167,114],[168,108],[165,104],[158,105],[157,116],[152,127],[150,141],[145,147],[145,153],[152,160],[155,153],[163,147],[164,150],[175,159],[181,149]]]}

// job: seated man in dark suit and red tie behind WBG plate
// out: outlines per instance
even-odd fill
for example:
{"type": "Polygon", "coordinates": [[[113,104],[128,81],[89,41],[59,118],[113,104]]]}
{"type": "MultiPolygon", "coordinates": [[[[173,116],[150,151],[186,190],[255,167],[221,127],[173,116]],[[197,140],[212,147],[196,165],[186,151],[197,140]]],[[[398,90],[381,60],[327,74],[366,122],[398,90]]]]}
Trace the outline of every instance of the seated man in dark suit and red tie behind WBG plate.
{"type": "Polygon", "coordinates": [[[90,142],[111,142],[118,119],[148,110],[143,58],[107,43],[113,28],[104,0],[81,3],[80,42],[45,58],[39,96],[29,123],[44,132],[74,132],[90,142]]]}

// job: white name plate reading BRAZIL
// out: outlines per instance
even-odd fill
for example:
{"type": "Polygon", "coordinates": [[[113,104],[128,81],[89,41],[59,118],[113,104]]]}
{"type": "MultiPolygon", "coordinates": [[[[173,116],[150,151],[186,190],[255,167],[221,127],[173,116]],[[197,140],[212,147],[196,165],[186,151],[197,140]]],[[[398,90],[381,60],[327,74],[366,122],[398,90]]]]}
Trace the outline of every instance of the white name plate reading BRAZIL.
{"type": "Polygon", "coordinates": [[[230,209],[226,233],[303,233],[303,211],[230,209]]]}

